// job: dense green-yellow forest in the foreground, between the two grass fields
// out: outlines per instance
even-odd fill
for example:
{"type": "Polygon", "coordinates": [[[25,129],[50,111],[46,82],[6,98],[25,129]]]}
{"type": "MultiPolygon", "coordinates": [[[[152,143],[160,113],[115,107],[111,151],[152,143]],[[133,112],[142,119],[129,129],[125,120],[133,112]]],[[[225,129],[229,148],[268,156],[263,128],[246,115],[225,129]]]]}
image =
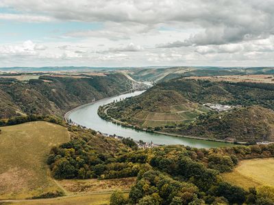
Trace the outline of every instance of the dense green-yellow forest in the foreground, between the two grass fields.
{"type": "MultiPolygon", "coordinates": [[[[160,146],[135,150],[127,143],[70,127],[73,139],[51,150],[47,160],[54,178],[123,178],[137,176],[129,199],[120,204],[271,204],[271,188],[246,191],[219,177],[243,159],[274,156],[269,146],[198,149],[160,146]]],[[[120,200],[120,201],[119,201],[120,200]]]]}

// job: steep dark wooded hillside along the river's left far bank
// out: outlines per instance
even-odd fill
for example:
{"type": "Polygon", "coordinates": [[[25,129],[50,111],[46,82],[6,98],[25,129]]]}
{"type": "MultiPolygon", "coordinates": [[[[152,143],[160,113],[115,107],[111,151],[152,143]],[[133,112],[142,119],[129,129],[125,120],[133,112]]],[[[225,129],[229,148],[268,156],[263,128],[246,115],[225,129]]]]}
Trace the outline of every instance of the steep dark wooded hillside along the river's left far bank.
{"type": "Polygon", "coordinates": [[[0,118],[22,114],[54,114],[130,90],[123,74],[91,77],[42,76],[27,82],[0,79],[0,118]]]}

